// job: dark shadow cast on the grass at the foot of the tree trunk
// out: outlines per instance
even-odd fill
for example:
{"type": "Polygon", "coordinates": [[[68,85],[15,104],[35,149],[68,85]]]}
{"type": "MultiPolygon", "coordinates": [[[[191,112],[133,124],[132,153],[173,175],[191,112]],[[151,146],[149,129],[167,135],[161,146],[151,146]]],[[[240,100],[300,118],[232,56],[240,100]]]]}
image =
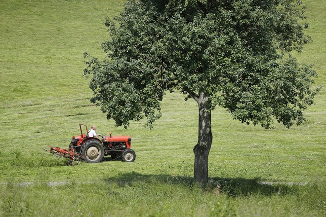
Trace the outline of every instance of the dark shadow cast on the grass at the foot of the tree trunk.
{"type": "Polygon", "coordinates": [[[144,175],[136,172],[124,173],[117,177],[105,178],[104,181],[116,182],[119,186],[132,186],[134,182],[148,183],[166,183],[172,185],[183,185],[187,188],[200,187],[215,194],[224,193],[228,196],[252,196],[252,195],[288,195],[295,194],[299,185],[287,185],[285,183],[276,183],[273,185],[259,183],[259,179],[243,179],[243,178],[220,178],[214,177],[207,184],[198,184],[193,182],[192,177],[170,176],[170,175],[144,175]]]}

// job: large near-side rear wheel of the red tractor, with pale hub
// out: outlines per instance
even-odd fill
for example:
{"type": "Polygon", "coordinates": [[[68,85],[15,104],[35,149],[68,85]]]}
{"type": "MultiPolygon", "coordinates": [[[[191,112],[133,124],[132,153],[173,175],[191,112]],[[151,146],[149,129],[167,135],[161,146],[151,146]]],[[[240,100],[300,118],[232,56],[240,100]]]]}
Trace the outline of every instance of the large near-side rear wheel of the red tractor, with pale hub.
{"type": "Polygon", "coordinates": [[[97,140],[88,140],[82,145],[82,159],[87,163],[98,163],[103,159],[104,147],[97,140]]]}

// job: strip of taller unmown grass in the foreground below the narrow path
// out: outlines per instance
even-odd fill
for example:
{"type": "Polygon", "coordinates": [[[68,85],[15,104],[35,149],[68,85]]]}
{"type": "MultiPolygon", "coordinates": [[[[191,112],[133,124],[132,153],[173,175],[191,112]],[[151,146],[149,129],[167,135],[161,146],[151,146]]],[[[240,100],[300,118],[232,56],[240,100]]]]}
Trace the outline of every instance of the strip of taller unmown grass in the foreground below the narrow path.
{"type": "Polygon", "coordinates": [[[324,216],[325,185],[260,185],[224,180],[121,174],[97,183],[0,186],[1,216],[324,216]],[[132,180],[130,180],[132,178],[132,180]],[[311,196],[314,194],[314,197],[311,196]],[[37,201],[37,202],[35,202],[37,201]]]}

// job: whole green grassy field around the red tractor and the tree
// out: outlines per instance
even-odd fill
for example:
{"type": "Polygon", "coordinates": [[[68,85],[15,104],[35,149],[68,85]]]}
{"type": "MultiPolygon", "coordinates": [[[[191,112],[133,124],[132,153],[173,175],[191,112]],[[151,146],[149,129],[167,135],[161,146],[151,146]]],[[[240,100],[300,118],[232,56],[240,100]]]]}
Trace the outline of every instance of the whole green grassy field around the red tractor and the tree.
{"type": "Polygon", "coordinates": [[[89,102],[83,52],[104,56],[104,17],[118,15],[123,1],[1,0],[0,216],[326,216],[326,2],[303,2],[314,41],[296,56],[315,64],[322,87],[309,121],[264,130],[217,108],[211,181],[199,186],[194,101],[168,93],[152,131],[144,122],[114,127],[89,102]],[[43,151],[67,147],[79,123],[130,135],[136,161],[70,167],[43,151]]]}

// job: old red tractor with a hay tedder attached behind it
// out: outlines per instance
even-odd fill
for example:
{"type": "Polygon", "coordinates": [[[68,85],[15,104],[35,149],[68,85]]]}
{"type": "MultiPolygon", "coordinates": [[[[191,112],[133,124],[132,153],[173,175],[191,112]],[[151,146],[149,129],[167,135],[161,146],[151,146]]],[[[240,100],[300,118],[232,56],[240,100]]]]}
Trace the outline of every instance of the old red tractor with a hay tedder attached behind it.
{"type": "Polygon", "coordinates": [[[45,149],[57,157],[68,158],[69,165],[79,164],[80,160],[87,163],[98,163],[102,161],[104,156],[111,155],[112,159],[122,158],[125,162],[132,162],[136,158],[136,153],[131,149],[131,138],[129,136],[106,136],[106,134],[98,135],[102,139],[96,137],[88,137],[88,128],[85,124],[79,124],[81,135],[73,136],[69,148],[60,148],[49,146],[45,149]],[[83,134],[82,128],[86,130],[83,134]]]}

